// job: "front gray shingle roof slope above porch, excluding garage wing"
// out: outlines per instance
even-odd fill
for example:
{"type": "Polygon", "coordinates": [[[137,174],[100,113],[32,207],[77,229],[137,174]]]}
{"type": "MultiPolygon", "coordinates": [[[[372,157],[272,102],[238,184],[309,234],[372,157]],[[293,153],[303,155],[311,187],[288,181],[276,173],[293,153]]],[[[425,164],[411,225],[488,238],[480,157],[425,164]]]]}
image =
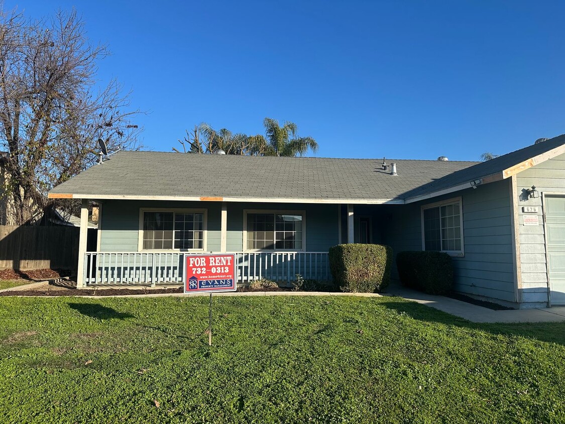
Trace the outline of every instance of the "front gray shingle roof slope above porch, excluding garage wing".
{"type": "MultiPolygon", "coordinates": [[[[55,187],[51,193],[377,200],[402,198],[433,179],[476,162],[398,160],[398,175],[383,159],[284,158],[118,152],[55,187]]],[[[387,159],[387,163],[392,160],[387,159]]]]}

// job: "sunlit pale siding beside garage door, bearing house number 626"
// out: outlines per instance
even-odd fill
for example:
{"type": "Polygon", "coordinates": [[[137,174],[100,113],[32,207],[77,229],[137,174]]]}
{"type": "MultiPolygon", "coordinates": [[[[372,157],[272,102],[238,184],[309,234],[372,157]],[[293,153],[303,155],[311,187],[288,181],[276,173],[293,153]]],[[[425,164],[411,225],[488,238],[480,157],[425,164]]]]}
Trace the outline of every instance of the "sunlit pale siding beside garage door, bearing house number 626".
{"type": "Polygon", "coordinates": [[[522,302],[547,302],[547,264],[545,255],[544,213],[542,193],[565,194],[565,154],[549,159],[516,175],[518,198],[518,235],[520,243],[522,302]],[[529,198],[524,190],[532,185],[540,197],[529,198]],[[537,206],[538,213],[524,213],[523,206],[537,206]],[[537,215],[538,226],[524,226],[524,215],[537,215]]]}

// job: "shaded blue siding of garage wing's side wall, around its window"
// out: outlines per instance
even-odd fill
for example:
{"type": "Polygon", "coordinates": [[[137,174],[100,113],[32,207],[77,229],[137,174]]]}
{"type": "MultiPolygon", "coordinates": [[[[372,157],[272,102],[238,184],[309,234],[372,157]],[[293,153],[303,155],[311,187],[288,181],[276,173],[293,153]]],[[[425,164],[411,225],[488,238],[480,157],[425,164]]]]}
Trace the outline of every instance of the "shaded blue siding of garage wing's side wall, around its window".
{"type": "MultiPolygon", "coordinates": [[[[455,289],[515,302],[510,181],[479,185],[409,205],[392,205],[383,214],[384,243],[421,250],[421,206],[462,197],[464,257],[454,257],[455,289]]],[[[396,266],[393,276],[397,277],[396,266]]]]}

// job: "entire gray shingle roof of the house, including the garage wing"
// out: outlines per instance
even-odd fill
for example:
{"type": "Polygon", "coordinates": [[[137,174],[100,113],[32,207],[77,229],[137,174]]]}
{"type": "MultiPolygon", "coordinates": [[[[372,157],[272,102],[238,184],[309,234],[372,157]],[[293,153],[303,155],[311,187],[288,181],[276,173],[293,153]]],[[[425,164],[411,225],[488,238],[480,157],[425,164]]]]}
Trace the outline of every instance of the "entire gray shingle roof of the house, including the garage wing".
{"type": "Polygon", "coordinates": [[[386,159],[397,163],[397,176],[381,169],[383,159],[118,152],[49,197],[404,204],[474,180],[507,178],[512,167],[535,165],[537,156],[563,144],[559,136],[487,162],[386,159]]]}

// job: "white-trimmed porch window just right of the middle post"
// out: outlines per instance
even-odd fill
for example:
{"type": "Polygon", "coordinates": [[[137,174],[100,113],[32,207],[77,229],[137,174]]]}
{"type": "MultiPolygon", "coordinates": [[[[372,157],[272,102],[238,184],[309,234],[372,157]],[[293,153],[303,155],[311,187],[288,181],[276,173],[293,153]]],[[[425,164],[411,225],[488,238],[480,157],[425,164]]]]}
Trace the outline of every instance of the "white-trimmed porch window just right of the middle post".
{"type": "Polygon", "coordinates": [[[261,211],[245,215],[247,250],[303,249],[303,213],[261,211]]]}

